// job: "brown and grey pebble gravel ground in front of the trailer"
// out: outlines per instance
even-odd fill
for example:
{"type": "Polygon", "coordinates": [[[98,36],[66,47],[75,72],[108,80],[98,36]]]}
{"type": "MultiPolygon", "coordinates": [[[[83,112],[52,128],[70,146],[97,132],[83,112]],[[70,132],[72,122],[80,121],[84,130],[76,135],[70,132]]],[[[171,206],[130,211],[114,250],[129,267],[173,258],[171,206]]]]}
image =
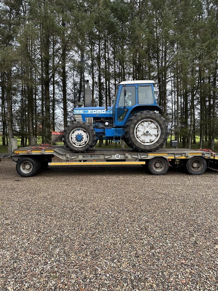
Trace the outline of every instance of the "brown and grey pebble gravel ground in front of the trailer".
{"type": "Polygon", "coordinates": [[[0,290],[217,290],[218,172],[0,163],[0,290]]]}

